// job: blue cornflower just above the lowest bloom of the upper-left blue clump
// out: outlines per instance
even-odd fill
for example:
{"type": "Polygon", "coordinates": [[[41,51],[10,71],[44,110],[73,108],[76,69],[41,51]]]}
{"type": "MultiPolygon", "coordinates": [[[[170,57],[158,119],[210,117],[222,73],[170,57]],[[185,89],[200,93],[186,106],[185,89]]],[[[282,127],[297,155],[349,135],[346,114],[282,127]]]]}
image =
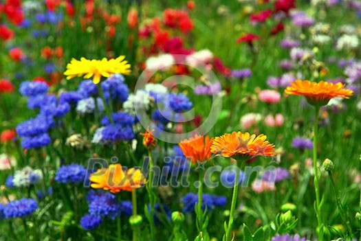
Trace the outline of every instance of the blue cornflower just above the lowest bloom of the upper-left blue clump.
{"type": "Polygon", "coordinates": [[[38,115],[19,124],[17,126],[17,133],[20,137],[33,137],[46,133],[49,128],[48,119],[45,115],[38,115]]]}

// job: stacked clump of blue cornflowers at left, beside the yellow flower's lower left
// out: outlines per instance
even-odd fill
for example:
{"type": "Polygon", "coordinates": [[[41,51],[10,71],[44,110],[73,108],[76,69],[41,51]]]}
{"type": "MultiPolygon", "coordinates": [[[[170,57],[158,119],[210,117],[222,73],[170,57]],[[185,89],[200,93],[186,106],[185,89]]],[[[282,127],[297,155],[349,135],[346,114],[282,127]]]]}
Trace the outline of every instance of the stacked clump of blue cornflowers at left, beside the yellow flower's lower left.
{"type": "Polygon", "coordinates": [[[50,144],[47,131],[54,127],[54,118],[61,118],[70,111],[67,102],[58,102],[53,94],[47,95],[49,87],[45,82],[25,81],[21,83],[20,93],[29,97],[29,108],[40,108],[40,114],[17,126],[17,133],[23,137],[21,145],[25,149],[41,148],[50,144]]]}

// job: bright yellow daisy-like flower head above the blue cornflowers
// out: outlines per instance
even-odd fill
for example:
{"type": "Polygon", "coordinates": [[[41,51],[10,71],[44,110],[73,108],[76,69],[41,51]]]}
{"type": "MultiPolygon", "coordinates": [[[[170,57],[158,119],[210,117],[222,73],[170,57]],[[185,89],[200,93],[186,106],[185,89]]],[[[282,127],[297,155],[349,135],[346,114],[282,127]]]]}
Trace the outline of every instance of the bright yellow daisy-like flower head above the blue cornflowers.
{"type": "Polygon", "coordinates": [[[102,60],[80,58],[80,60],[76,60],[73,58],[67,64],[67,70],[64,72],[64,75],[67,76],[67,80],[83,75],[85,79],[93,77],[94,84],[98,84],[102,76],[108,78],[113,73],[129,75],[131,73],[131,65],[124,58],[125,56],[119,56],[111,60],[107,60],[107,58],[102,60]]]}

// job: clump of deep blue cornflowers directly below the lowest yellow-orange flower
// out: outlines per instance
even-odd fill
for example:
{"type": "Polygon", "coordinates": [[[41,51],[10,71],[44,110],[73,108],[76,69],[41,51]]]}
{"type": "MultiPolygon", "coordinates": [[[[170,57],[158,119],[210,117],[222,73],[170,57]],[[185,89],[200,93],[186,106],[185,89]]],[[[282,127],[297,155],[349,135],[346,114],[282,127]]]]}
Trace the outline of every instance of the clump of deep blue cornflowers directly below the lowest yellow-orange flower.
{"type": "Polygon", "coordinates": [[[116,196],[109,192],[90,190],[87,194],[87,200],[89,202],[89,214],[80,220],[80,225],[85,230],[96,229],[104,218],[113,220],[121,214],[125,216],[132,214],[133,208],[130,201],[118,202],[116,196]]]}

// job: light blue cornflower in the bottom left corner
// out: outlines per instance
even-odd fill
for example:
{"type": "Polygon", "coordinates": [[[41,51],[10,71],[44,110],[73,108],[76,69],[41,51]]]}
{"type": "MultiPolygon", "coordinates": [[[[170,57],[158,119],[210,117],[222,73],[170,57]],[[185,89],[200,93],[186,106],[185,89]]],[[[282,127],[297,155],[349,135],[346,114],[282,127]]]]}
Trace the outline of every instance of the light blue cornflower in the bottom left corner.
{"type": "Polygon", "coordinates": [[[33,198],[21,198],[19,200],[12,200],[5,206],[3,213],[6,218],[23,218],[32,214],[38,208],[38,203],[33,198]]]}

